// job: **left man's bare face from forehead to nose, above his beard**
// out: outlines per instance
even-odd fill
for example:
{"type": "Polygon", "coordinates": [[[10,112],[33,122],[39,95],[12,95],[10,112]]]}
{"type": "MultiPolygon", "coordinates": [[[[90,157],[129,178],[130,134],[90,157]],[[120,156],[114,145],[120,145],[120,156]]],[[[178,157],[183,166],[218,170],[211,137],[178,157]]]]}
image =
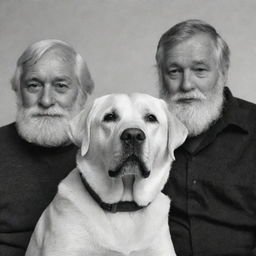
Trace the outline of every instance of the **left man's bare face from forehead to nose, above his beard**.
{"type": "Polygon", "coordinates": [[[25,68],[20,88],[22,105],[42,109],[59,105],[62,109],[71,109],[78,88],[73,65],[50,50],[34,65],[25,68]]]}

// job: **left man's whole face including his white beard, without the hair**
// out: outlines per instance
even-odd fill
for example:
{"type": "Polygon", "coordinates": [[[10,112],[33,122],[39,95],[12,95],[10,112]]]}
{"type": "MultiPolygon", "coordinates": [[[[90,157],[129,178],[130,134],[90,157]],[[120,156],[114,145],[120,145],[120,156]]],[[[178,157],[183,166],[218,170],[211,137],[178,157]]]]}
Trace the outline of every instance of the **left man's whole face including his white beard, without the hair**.
{"type": "Polygon", "coordinates": [[[68,143],[68,121],[86,100],[74,65],[56,51],[49,50],[34,65],[24,68],[17,93],[18,131],[29,142],[42,146],[68,143]]]}

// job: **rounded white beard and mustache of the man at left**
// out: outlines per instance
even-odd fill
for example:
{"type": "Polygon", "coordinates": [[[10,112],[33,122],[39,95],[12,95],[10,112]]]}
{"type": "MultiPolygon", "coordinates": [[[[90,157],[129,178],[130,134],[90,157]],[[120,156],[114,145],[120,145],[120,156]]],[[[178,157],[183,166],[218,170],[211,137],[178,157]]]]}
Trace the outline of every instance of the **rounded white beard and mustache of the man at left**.
{"type": "Polygon", "coordinates": [[[69,121],[81,111],[84,105],[81,97],[69,110],[59,105],[49,109],[42,109],[37,105],[24,108],[19,98],[17,95],[16,127],[23,139],[44,147],[57,147],[71,143],[67,133],[69,121]]]}

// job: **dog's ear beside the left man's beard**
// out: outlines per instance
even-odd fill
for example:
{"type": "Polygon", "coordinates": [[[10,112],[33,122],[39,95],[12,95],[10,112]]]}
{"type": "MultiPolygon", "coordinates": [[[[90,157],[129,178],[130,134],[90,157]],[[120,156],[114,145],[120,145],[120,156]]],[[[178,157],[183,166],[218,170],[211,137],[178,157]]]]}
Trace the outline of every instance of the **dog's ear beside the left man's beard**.
{"type": "Polygon", "coordinates": [[[93,108],[93,102],[87,102],[85,108],[76,115],[69,124],[69,138],[71,141],[81,148],[81,155],[84,156],[90,144],[90,113],[93,108]]]}

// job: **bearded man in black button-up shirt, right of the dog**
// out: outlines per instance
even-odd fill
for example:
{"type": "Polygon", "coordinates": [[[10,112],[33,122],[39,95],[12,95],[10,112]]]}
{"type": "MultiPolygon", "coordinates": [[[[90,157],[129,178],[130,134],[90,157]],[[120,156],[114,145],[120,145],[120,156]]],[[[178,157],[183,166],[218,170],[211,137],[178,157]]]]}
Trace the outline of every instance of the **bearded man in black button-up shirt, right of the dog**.
{"type": "Polygon", "coordinates": [[[229,56],[200,20],[158,44],[160,95],[189,131],[164,189],[179,256],[256,255],[256,106],[225,87],[229,56]]]}

